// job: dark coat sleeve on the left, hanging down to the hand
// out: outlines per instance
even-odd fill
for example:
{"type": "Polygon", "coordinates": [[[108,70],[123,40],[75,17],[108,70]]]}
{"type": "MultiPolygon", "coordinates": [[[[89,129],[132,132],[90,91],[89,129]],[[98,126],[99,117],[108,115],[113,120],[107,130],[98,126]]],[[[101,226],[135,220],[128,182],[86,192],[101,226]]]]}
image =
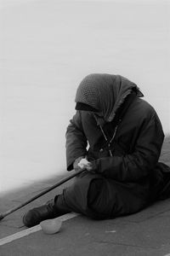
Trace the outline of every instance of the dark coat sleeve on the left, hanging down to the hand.
{"type": "Polygon", "coordinates": [[[73,116],[70,121],[70,125],[67,127],[66,131],[66,161],[67,161],[67,171],[73,169],[74,161],[80,157],[87,154],[87,138],[82,129],[82,118],[81,112],[73,116]]]}

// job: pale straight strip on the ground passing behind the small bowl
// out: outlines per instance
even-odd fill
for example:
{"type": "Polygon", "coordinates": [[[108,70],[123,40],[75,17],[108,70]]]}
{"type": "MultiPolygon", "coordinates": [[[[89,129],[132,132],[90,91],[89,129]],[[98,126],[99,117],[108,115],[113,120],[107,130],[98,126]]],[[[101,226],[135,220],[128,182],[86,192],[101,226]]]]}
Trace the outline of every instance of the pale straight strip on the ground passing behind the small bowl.
{"type": "MultiPolygon", "coordinates": [[[[80,214],[76,213],[76,212],[71,212],[71,213],[67,213],[65,215],[59,216],[58,218],[55,218],[55,219],[60,219],[62,221],[66,221],[70,218],[75,218],[78,215],[80,215],[80,214]]],[[[0,239],[0,246],[3,246],[4,244],[9,243],[11,241],[20,239],[21,237],[29,236],[30,234],[35,233],[39,230],[42,230],[42,228],[38,224],[37,226],[34,226],[32,228],[29,228],[29,229],[26,229],[26,230],[21,230],[20,232],[14,233],[13,235],[3,237],[2,239],[0,239]]]]}

